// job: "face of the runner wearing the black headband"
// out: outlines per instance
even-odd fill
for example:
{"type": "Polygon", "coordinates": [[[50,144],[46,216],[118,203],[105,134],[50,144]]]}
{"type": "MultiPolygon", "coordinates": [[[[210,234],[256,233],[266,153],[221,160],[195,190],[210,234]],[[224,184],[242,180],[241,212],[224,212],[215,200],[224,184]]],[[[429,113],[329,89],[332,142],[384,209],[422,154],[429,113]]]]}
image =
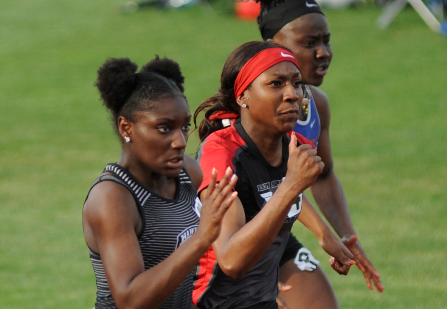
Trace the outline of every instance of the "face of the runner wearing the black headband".
{"type": "Polygon", "coordinates": [[[295,54],[303,81],[320,86],[332,60],[329,25],[320,13],[309,13],[285,25],[273,41],[295,54]]]}

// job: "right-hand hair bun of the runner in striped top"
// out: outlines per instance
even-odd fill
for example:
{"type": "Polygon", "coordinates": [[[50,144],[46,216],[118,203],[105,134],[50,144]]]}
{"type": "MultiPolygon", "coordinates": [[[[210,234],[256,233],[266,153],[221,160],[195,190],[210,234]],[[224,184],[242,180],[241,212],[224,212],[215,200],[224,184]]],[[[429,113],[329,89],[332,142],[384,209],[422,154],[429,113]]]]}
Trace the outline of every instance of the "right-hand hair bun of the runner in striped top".
{"type": "Polygon", "coordinates": [[[144,65],[141,68],[140,72],[154,72],[156,74],[162,75],[165,78],[173,81],[181,92],[185,91],[185,88],[183,88],[185,77],[181,74],[180,66],[177,62],[169,58],[160,58],[159,55],[156,55],[155,59],[144,65]]]}

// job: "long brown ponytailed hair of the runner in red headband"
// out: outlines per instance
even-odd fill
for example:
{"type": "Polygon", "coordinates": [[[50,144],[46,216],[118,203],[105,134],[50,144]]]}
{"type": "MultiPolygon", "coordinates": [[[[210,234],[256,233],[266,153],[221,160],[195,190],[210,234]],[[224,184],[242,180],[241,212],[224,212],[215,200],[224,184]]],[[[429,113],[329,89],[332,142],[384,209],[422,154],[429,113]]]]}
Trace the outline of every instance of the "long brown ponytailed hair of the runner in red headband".
{"type": "Polygon", "coordinates": [[[200,104],[194,112],[194,125],[195,128],[198,128],[200,141],[205,140],[205,138],[212,132],[223,128],[222,120],[211,120],[209,119],[211,115],[218,111],[225,111],[240,115],[240,107],[236,102],[236,95],[234,93],[234,83],[236,81],[237,74],[239,74],[239,71],[245,63],[248,62],[255,54],[259,53],[261,50],[271,47],[284,48],[282,45],[272,42],[251,41],[240,45],[230,54],[227,61],[223,65],[222,74],[220,76],[219,92],[211,98],[203,101],[203,103],[200,104]],[[198,115],[202,111],[205,112],[205,117],[201,123],[197,125],[198,115]]]}

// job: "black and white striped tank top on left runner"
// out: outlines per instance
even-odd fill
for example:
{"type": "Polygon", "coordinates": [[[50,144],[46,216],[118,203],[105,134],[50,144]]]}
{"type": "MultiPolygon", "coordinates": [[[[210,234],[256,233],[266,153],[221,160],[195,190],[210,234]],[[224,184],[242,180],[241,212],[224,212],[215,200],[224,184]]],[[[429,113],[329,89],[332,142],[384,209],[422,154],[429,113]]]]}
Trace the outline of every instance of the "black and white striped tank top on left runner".
{"type": "MultiPolygon", "coordinates": [[[[104,172],[110,174],[97,178],[92,188],[101,181],[115,181],[124,185],[131,192],[139,207],[143,226],[138,235],[138,241],[143,254],[145,270],[166,259],[197,230],[199,218],[194,211],[197,190],[184,169],[177,177],[177,192],[173,200],[145,189],[121,165],[110,163],[105,166],[104,172]]],[[[114,309],[116,305],[110,294],[101,257],[90,248],[89,252],[97,279],[95,308],[114,309]]],[[[193,276],[191,273],[160,309],[190,309],[192,288],[193,276]]]]}

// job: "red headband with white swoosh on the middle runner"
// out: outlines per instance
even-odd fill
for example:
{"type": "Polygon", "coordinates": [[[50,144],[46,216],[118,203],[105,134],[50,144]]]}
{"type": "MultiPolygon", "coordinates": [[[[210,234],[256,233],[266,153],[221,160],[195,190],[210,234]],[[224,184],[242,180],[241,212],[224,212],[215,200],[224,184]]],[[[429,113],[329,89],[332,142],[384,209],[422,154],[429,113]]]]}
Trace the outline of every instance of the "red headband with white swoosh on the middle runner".
{"type": "Polygon", "coordinates": [[[250,58],[240,69],[234,82],[234,94],[236,99],[247,87],[265,70],[283,61],[290,61],[299,69],[298,61],[291,52],[282,47],[270,47],[261,50],[250,58]]]}

